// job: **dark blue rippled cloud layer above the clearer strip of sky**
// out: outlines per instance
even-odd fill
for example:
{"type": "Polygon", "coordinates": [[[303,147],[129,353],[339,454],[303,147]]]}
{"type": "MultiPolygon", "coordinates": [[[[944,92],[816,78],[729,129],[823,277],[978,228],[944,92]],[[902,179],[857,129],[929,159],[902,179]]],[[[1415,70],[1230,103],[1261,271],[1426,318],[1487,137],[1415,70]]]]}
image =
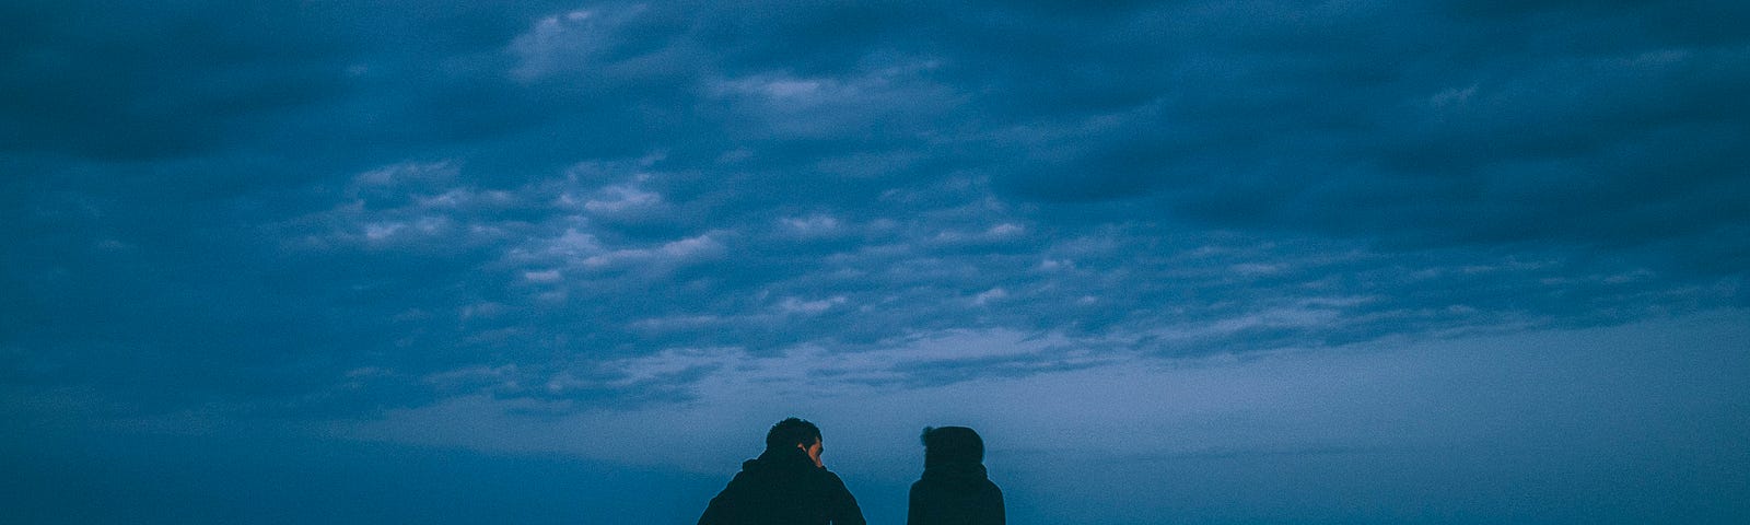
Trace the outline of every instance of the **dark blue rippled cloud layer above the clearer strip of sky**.
{"type": "Polygon", "coordinates": [[[1746,24],[5,2],[0,413],[564,416],[1741,312],[1746,24]]]}

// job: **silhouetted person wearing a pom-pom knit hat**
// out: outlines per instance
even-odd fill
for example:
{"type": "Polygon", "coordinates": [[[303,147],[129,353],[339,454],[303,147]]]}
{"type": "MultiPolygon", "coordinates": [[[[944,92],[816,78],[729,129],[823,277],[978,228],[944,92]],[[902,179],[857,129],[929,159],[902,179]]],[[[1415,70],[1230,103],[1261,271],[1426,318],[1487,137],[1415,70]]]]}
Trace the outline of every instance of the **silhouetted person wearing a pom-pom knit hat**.
{"type": "Polygon", "coordinates": [[[906,525],[1003,525],[1003,490],[984,469],[984,439],[968,427],[924,427],[924,476],[912,483],[906,525]]]}

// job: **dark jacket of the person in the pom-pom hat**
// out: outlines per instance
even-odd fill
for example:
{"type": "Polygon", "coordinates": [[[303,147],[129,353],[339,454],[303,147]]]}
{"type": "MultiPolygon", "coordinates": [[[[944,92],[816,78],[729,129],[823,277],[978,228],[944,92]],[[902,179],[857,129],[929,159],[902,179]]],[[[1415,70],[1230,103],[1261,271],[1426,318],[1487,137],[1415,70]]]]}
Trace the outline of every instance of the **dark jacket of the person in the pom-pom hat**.
{"type": "Polygon", "coordinates": [[[924,469],[912,483],[906,525],[1003,525],[1003,490],[980,464],[943,464],[924,469]]]}

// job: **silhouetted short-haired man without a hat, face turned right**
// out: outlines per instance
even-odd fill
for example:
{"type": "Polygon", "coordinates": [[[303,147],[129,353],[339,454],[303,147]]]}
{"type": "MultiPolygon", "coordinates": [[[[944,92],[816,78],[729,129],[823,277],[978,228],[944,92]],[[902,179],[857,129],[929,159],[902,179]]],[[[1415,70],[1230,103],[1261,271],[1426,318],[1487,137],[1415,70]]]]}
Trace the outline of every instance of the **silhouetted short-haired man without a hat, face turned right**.
{"type": "Polygon", "coordinates": [[[766,432],[766,450],[710,499],[698,525],[864,525],[845,481],[821,464],[821,429],[788,418],[766,432]]]}

